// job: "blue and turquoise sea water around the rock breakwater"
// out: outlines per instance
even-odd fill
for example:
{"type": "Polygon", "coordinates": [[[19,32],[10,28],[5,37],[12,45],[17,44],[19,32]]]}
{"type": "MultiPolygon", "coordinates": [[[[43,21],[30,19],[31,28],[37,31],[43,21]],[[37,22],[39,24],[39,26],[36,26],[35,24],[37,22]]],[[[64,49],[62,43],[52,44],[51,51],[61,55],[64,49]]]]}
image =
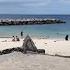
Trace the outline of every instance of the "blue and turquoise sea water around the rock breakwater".
{"type": "Polygon", "coordinates": [[[0,26],[0,37],[23,37],[30,35],[33,38],[64,39],[66,35],[70,38],[70,15],[22,15],[22,14],[0,14],[0,19],[23,19],[23,18],[47,18],[60,19],[66,23],[62,24],[43,24],[43,25],[11,25],[0,26]]]}

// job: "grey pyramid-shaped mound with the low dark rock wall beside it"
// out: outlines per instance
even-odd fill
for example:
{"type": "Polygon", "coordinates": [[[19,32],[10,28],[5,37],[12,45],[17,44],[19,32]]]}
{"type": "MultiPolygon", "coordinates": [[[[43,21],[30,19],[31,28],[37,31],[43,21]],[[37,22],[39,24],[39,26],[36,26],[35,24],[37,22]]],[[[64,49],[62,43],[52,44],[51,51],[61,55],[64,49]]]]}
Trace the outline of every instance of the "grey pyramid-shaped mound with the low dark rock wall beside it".
{"type": "Polygon", "coordinates": [[[45,50],[44,49],[37,49],[34,42],[30,38],[30,36],[28,36],[28,35],[24,39],[24,43],[21,47],[9,48],[9,49],[2,50],[2,51],[0,51],[0,55],[9,54],[9,53],[12,53],[14,51],[22,52],[22,53],[45,54],[45,50]]]}

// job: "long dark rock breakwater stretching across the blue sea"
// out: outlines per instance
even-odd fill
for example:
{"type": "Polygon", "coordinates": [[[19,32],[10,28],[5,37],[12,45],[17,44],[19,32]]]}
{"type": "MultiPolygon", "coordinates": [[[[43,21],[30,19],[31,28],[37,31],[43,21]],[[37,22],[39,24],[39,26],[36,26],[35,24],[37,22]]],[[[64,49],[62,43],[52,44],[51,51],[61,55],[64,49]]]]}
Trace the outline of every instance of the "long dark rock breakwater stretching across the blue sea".
{"type": "Polygon", "coordinates": [[[0,25],[35,25],[35,24],[60,24],[65,21],[60,19],[0,19],[0,25]]]}

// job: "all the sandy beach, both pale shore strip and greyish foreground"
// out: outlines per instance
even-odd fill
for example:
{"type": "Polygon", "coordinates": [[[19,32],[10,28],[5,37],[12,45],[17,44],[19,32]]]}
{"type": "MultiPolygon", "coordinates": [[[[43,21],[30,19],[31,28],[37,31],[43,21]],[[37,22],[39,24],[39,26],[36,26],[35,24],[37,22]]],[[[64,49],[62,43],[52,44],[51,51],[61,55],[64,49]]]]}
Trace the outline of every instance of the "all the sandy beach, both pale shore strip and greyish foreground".
{"type": "MultiPolygon", "coordinates": [[[[45,55],[21,52],[0,55],[0,70],[70,70],[70,58],[50,56],[70,56],[70,41],[37,38],[32,40],[38,49],[45,49],[45,55]]],[[[0,51],[21,47],[23,42],[24,39],[13,42],[12,38],[0,38],[0,51]]]]}

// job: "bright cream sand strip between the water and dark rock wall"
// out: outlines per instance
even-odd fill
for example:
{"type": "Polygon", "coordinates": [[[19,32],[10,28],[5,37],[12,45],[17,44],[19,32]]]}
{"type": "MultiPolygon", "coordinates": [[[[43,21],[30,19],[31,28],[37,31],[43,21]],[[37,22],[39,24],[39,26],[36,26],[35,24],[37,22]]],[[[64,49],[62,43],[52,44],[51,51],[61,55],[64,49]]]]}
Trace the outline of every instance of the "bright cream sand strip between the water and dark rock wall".
{"type": "MultiPolygon", "coordinates": [[[[45,54],[70,56],[70,41],[63,39],[37,39],[32,38],[38,49],[45,49],[45,54]]],[[[0,50],[22,47],[24,39],[12,41],[12,38],[0,38],[0,50]]]]}

